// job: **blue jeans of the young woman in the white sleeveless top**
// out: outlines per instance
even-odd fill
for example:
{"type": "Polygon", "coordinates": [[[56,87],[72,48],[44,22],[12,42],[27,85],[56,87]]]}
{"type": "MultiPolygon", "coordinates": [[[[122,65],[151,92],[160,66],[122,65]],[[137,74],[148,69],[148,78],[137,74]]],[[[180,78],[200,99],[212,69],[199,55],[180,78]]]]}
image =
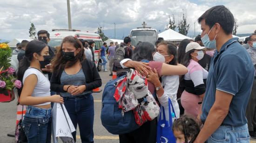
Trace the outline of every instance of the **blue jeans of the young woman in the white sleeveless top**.
{"type": "Polygon", "coordinates": [[[51,111],[52,109],[28,106],[22,121],[22,128],[27,136],[27,143],[51,143],[51,111]]]}

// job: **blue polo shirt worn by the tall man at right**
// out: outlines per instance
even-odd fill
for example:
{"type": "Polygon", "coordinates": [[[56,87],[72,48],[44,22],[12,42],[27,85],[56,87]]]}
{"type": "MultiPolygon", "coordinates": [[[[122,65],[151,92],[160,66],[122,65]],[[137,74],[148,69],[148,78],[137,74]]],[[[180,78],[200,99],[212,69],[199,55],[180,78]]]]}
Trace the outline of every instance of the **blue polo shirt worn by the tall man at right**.
{"type": "Polygon", "coordinates": [[[254,80],[254,66],[248,52],[237,40],[229,39],[211,60],[202,104],[203,122],[215,102],[216,90],[219,90],[233,95],[229,113],[222,124],[241,126],[247,123],[245,110],[254,80]]]}

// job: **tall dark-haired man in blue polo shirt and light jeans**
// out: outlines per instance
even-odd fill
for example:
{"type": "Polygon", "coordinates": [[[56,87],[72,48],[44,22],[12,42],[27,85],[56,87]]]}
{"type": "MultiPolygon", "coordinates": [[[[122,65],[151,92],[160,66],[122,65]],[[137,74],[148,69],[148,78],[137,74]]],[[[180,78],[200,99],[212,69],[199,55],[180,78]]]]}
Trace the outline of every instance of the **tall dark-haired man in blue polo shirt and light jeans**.
{"type": "Polygon", "coordinates": [[[232,38],[233,14],[224,6],[216,6],[203,13],[198,22],[203,44],[217,50],[211,60],[202,103],[204,125],[194,143],[249,143],[245,112],[254,67],[246,49],[237,38],[232,38]]]}

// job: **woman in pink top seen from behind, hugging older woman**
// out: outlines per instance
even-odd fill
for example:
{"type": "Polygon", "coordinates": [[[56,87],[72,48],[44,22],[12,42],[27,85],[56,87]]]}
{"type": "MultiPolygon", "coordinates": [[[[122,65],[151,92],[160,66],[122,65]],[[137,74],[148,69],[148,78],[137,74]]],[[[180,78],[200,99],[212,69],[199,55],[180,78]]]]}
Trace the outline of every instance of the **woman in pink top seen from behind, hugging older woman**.
{"type": "MultiPolygon", "coordinates": [[[[155,52],[155,46],[149,42],[142,42],[136,46],[132,60],[124,59],[121,61],[121,66],[123,68],[131,67],[135,68],[140,73],[145,74],[145,68],[141,60],[148,60],[149,63],[146,64],[159,76],[162,75],[182,75],[188,72],[187,68],[183,65],[168,65],[161,62],[153,61],[153,55],[160,54],[155,52]]],[[[154,56],[155,57],[155,56],[154,56]]],[[[151,76],[149,72],[149,77],[151,76]]],[[[148,73],[146,73],[148,76],[148,73]]],[[[157,95],[162,95],[164,93],[161,82],[154,81],[148,82],[148,90],[154,95],[155,91],[157,95]],[[155,88],[156,87],[156,88],[155,88]]],[[[120,143],[155,143],[156,142],[156,118],[152,121],[147,121],[139,129],[134,130],[130,133],[119,135],[120,143]]]]}

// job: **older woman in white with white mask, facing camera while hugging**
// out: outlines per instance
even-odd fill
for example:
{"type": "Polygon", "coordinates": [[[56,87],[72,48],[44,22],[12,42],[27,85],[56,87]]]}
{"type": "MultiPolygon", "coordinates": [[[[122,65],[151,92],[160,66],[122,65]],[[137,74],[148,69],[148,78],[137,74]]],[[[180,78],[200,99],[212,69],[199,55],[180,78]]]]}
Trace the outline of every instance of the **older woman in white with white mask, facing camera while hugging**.
{"type": "MultiPolygon", "coordinates": [[[[169,41],[162,40],[158,44],[158,53],[154,55],[154,61],[167,63],[168,65],[177,65],[177,47],[169,41]]],[[[149,82],[159,81],[157,72],[150,72],[148,77],[149,82]]],[[[177,102],[177,91],[179,87],[179,76],[178,75],[166,75],[162,76],[162,86],[164,87],[163,94],[157,94],[159,103],[166,110],[166,117],[168,120],[168,98],[171,99],[171,103],[173,104],[175,115],[177,118],[180,117],[180,109],[179,104],[177,102]]],[[[156,87],[155,87],[156,88],[156,87]]],[[[172,121],[170,119],[170,121],[172,121]]]]}

